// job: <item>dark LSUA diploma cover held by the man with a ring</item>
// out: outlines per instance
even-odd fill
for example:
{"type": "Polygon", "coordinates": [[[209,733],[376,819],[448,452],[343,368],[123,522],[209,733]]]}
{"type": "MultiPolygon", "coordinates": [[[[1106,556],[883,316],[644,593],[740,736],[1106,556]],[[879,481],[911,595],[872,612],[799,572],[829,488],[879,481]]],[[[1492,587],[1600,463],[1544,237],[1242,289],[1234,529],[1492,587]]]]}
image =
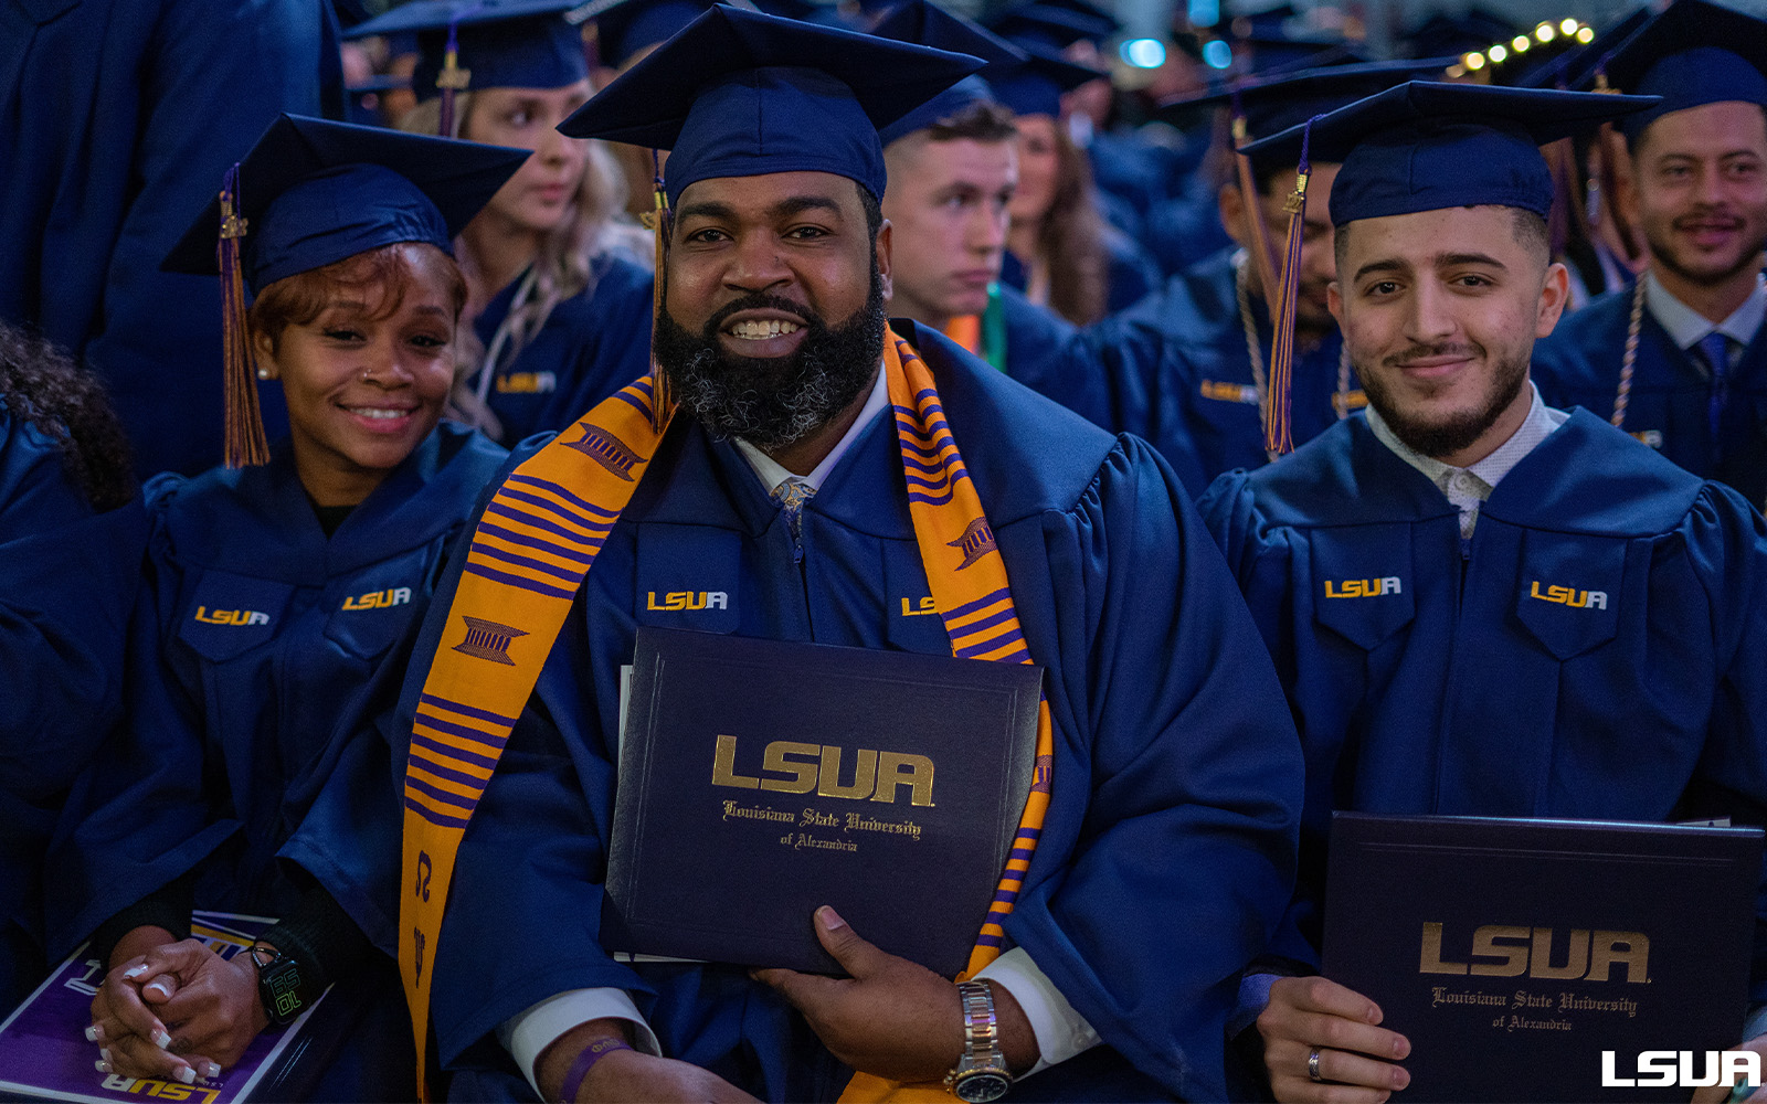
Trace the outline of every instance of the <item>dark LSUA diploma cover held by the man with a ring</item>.
{"type": "Polygon", "coordinates": [[[1686,1100],[1603,1051],[1740,1042],[1758,828],[1332,814],[1323,973],[1412,1042],[1403,1100],[1686,1100]]]}

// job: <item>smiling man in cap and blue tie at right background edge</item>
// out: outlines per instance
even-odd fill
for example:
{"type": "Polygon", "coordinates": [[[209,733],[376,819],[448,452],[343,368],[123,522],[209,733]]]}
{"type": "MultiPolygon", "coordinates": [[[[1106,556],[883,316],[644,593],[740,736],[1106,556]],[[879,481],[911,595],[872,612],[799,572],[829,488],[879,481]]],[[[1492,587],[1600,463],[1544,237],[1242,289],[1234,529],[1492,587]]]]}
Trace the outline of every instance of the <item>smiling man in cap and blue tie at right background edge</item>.
{"type": "Polygon", "coordinates": [[[1606,67],[1661,95],[1620,129],[1620,208],[1650,268],[1543,341],[1541,394],[1583,406],[1695,475],[1767,502],[1767,23],[1677,0],[1606,67]]]}

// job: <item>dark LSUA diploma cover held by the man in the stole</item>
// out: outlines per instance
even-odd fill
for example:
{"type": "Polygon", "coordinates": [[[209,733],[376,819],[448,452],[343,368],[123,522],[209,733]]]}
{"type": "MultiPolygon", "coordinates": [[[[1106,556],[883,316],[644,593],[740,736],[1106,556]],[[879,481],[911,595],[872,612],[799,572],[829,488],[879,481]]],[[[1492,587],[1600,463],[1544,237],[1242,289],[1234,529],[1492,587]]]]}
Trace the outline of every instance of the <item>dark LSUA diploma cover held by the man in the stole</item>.
{"type": "Polygon", "coordinates": [[[839,973],[813,913],[952,977],[1030,791],[1043,668],[638,629],[603,945],[839,973]]]}

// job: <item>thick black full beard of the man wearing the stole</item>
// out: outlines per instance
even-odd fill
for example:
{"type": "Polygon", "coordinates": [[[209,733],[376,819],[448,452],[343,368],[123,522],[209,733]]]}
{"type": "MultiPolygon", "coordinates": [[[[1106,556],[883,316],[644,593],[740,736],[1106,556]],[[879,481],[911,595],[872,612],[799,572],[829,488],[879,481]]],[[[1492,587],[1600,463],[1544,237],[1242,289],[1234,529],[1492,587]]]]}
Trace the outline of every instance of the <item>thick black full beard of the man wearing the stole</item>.
{"type": "Polygon", "coordinates": [[[804,304],[751,293],[730,302],[698,334],[664,309],[656,359],[680,408],[707,431],[740,436],[756,449],[793,445],[846,410],[884,357],[884,277],[871,265],[871,291],[852,318],[830,327],[804,304]],[[804,339],[788,357],[742,357],[723,350],[719,330],[739,311],[786,311],[804,320],[804,339]]]}

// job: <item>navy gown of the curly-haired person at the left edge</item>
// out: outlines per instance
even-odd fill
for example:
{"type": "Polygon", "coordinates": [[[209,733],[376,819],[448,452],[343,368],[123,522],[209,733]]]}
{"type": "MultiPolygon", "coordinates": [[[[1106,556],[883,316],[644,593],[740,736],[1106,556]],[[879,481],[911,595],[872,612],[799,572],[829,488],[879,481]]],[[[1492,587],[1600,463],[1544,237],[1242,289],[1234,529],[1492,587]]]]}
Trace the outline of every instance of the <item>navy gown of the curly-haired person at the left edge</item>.
{"type": "Polygon", "coordinates": [[[57,443],[0,408],[0,1009],[42,980],[42,853],[122,698],[140,500],[92,516],[57,443]]]}

